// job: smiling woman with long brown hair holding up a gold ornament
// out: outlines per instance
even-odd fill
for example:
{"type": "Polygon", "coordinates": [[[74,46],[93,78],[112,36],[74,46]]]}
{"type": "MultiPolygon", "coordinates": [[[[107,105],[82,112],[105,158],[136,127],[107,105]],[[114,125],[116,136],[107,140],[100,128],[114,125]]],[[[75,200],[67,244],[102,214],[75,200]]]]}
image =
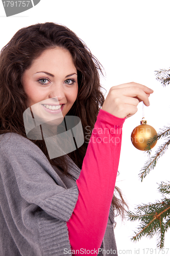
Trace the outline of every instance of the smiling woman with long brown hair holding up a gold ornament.
{"type": "Polygon", "coordinates": [[[2,49],[1,255],[117,255],[111,202],[124,209],[113,196],[122,125],[153,90],[120,84],[104,100],[99,72],[77,35],[54,23],[20,29],[2,49]],[[42,138],[27,138],[28,108],[48,122],[42,138]],[[58,114],[80,118],[84,143],[51,158],[43,136],[58,133],[58,114]]]}

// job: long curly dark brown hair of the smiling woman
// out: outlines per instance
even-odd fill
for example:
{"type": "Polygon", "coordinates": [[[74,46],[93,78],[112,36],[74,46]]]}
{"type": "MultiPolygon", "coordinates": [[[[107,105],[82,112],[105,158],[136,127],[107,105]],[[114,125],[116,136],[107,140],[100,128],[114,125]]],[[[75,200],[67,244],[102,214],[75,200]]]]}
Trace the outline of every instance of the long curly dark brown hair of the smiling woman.
{"type": "MultiPolygon", "coordinates": [[[[0,134],[17,133],[25,138],[23,112],[28,108],[28,97],[23,90],[21,78],[33,60],[46,49],[56,46],[67,49],[78,71],[78,97],[67,115],[81,119],[83,131],[89,127],[92,132],[96,117],[104,103],[100,85],[102,65],[90,52],[85,43],[65,26],[55,23],[35,24],[22,28],[2,49],[0,55],[0,134]],[[87,111],[88,110],[88,111],[87,111]]],[[[85,143],[68,156],[81,168],[87,150],[85,143]]],[[[33,141],[46,155],[48,161],[68,175],[65,157],[50,159],[43,140],[33,141]]],[[[115,187],[119,198],[113,196],[113,206],[118,214],[124,216],[126,205],[120,189],[115,187]]]]}

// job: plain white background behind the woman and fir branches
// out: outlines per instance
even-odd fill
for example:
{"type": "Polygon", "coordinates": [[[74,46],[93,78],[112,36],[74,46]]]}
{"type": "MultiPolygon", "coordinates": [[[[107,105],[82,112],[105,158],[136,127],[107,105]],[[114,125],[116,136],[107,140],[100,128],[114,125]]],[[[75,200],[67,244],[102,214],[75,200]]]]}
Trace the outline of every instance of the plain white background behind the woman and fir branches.
{"type": "MultiPolygon", "coordinates": [[[[55,22],[67,26],[85,41],[94,56],[105,68],[106,78],[102,79],[107,93],[112,86],[135,81],[154,90],[149,107],[144,108],[145,118],[157,132],[170,123],[170,86],[163,88],[156,80],[154,71],[170,67],[169,22],[170,2],[161,1],[96,1],[96,0],[41,0],[34,8],[6,17],[0,3],[0,48],[7,44],[15,32],[36,23],[55,22]]],[[[107,94],[106,94],[107,95],[107,94]]],[[[123,128],[122,152],[119,162],[119,176],[116,185],[120,187],[133,210],[135,205],[155,202],[161,196],[157,191],[161,181],[169,179],[168,150],[160,158],[157,167],[141,183],[138,174],[147,155],[136,150],[130,140],[135,126],[142,118],[142,103],[138,112],[128,118],[123,128]]],[[[154,149],[160,145],[158,141],[154,149]]],[[[153,150],[154,153],[154,150],[153,150]]],[[[157,238],[142,238],[130,241],[133,230],[139,223],[116,218],[115,236],[119,255],[157,255],[157,238]],[[131,250],[131,251],[127,251],[131,250]]],[[[170,231],[165,237],[165,255],[170,255],[170,231]]],[[[159,255],[162,253],[160,252],[159,255]]]]}

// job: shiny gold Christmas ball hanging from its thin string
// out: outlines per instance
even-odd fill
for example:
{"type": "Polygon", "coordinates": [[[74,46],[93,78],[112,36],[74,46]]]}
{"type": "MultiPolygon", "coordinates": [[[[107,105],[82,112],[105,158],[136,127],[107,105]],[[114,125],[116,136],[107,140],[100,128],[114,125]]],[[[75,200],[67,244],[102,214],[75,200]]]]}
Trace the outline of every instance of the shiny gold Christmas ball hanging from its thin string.
{"type": "MultiPolygon", "coordinates": [[[[143,116],[144,116],[144,105],[143,105],[143,116]]],[[[148,142],[154,136],[157,135],[156,130],[151,125],[147,124],[147,120],[144,120],[144,117],[140,121],[140,125],[136,126],[131,134],[132,144],[138,149],[145,151],[148,147],[148,142]]],[[[153,148],[156,145],[157,141],[154,141],[150,148],[153,148]]]]}

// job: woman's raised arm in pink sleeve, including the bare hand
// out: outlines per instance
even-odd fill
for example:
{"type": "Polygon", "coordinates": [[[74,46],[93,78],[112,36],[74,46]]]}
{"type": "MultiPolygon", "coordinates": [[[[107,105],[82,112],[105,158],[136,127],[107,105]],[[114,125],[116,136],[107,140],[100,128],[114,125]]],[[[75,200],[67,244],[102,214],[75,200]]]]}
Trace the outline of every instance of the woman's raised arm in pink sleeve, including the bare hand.
{"type": "Polygon", "coordinates": [[[106,97],[77,180],[79,198],[67,222],[73,250],[94,250],[102,244],[117,176],[122,125],[137,112],[140,101],[150,104],[151,93],[148,87],[132,82],[112,87],[106,97]]]}

